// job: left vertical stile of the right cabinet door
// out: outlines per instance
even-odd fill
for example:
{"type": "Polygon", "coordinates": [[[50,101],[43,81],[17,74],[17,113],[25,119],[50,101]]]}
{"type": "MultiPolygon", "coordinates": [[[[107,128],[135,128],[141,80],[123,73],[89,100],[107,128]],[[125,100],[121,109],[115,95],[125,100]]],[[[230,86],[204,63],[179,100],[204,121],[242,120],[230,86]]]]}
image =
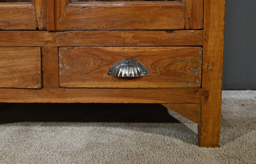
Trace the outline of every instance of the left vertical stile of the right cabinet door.
{"type": "Polygon", "coordinates": [[[66,30],[67,0],[55,0],[55,30],[66,30]]]}

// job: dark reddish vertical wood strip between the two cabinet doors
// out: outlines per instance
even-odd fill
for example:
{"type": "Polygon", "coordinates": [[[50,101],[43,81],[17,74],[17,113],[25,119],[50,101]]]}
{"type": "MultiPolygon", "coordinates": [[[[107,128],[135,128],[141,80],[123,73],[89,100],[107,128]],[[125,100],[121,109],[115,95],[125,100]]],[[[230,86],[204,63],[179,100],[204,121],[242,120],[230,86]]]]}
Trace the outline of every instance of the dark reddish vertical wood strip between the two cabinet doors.
{"type": "Polygon", "coordinates": [[[55,0],[46,0],[47,3],[47,30],[55,30],[55,0]]]}

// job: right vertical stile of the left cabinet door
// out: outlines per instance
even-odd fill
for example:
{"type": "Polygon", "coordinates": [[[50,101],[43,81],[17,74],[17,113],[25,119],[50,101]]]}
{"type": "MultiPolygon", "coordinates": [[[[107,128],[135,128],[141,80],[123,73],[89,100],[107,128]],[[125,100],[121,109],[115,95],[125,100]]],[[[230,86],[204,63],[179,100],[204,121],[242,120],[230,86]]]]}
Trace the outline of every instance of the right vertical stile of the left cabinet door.
{"type": "Polygon", "coordinates": [[[38,30],[47,29],[47,4],[46,0],[35,0],[36,20],[38,30]]]}

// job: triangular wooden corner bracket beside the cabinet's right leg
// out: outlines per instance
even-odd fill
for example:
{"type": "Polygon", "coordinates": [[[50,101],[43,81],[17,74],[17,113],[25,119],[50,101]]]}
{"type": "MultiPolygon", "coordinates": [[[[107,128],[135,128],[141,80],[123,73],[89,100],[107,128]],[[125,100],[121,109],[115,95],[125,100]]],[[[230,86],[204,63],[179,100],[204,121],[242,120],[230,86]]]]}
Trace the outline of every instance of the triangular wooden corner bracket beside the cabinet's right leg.
{"type": "Polygon", "coordinates": [[[201,125],[201,104],[166,103],[162,105],[201,125]]]}

